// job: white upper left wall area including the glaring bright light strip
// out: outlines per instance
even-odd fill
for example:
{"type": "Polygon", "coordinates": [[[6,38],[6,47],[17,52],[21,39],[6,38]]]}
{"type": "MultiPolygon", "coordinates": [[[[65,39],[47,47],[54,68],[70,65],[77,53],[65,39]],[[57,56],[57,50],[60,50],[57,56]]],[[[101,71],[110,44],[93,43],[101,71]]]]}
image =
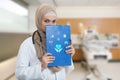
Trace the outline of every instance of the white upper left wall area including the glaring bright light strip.
{"type": "Polygon", "coordinates": [[[28,33],[27,14],[26,8],[12,0],[0,1],[0,32],[28,33]]]}

